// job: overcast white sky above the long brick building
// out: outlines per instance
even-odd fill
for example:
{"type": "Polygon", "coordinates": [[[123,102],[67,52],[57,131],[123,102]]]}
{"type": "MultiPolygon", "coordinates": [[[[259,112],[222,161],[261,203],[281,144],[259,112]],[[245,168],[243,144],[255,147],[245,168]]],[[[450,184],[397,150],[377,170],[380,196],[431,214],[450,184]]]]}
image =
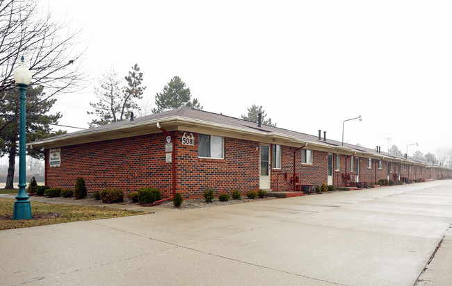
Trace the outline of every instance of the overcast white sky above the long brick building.
{"type": "MultiPolygon", "coordinates": [[[[180,76],[204,110],[263,106],[278,127],[387,151],[452,146],[452,1],[42,0],[83,28],[93,78],[58,97],[60,124],[88,127],[94,85],[137,63],[145,101],[180,76]]],[[[72,131],[76,131],[72,129],[72,131]]]]}

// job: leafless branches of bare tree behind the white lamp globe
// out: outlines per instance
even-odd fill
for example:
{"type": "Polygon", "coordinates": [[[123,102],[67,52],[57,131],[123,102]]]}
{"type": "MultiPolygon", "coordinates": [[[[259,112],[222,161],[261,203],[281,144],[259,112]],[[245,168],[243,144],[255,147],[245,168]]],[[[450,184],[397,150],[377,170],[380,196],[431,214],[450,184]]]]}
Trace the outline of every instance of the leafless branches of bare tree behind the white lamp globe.
{"type": "Polygon", "coordinates": [[[22,56],[33,74],[31,85],[41,85],[48,93],[80,87],[83,52],[75,51],[79,32],[54,22],[51,12],[41,12],[36,1],[0,0],[0,100],[16,86],[13,71],[22,56]]]}

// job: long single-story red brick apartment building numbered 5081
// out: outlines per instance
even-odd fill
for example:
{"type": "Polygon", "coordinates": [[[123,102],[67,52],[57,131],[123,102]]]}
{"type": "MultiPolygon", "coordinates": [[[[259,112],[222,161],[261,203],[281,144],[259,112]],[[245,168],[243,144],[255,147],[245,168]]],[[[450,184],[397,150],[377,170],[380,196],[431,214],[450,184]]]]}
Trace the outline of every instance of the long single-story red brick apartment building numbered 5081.
{"type": "Polygon", "coordinates": [[[239,190],[364,187],[380,179],[435,180],[451,169],[321,136],[179,108],[31,142],[45,152],[45,183],[88,192],[156,187],[186,199],[239,190]]]}

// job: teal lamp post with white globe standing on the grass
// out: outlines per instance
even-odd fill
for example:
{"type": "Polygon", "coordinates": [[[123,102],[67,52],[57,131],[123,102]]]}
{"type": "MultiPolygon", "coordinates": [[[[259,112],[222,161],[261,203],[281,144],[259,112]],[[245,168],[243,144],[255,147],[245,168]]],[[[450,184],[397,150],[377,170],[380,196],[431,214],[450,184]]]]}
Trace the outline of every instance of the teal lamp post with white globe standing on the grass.
{"type": "Polygon", "coordinates": [[[25,111],[26,87],[31,82],[31,72],[22,57],[19,67],[14,70],[14,80],[20,90],[20,127],[19,127],[19,192],[14,202],[13,219],[31,219],[29,195],[26,194],[25,182],[25,111]]]}

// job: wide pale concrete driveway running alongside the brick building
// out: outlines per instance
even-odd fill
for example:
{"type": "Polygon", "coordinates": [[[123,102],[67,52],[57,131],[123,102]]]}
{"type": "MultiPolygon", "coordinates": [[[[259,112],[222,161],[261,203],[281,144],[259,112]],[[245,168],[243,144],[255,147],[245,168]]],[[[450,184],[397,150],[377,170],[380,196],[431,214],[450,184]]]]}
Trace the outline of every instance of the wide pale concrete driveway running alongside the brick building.
{"type": "Polygon", "coordinates": [[[450,285],[451,224],[452,180],[156,209],[2,230],[0,285],[414,285],[442,240],[419,285],[450,285]]]}

